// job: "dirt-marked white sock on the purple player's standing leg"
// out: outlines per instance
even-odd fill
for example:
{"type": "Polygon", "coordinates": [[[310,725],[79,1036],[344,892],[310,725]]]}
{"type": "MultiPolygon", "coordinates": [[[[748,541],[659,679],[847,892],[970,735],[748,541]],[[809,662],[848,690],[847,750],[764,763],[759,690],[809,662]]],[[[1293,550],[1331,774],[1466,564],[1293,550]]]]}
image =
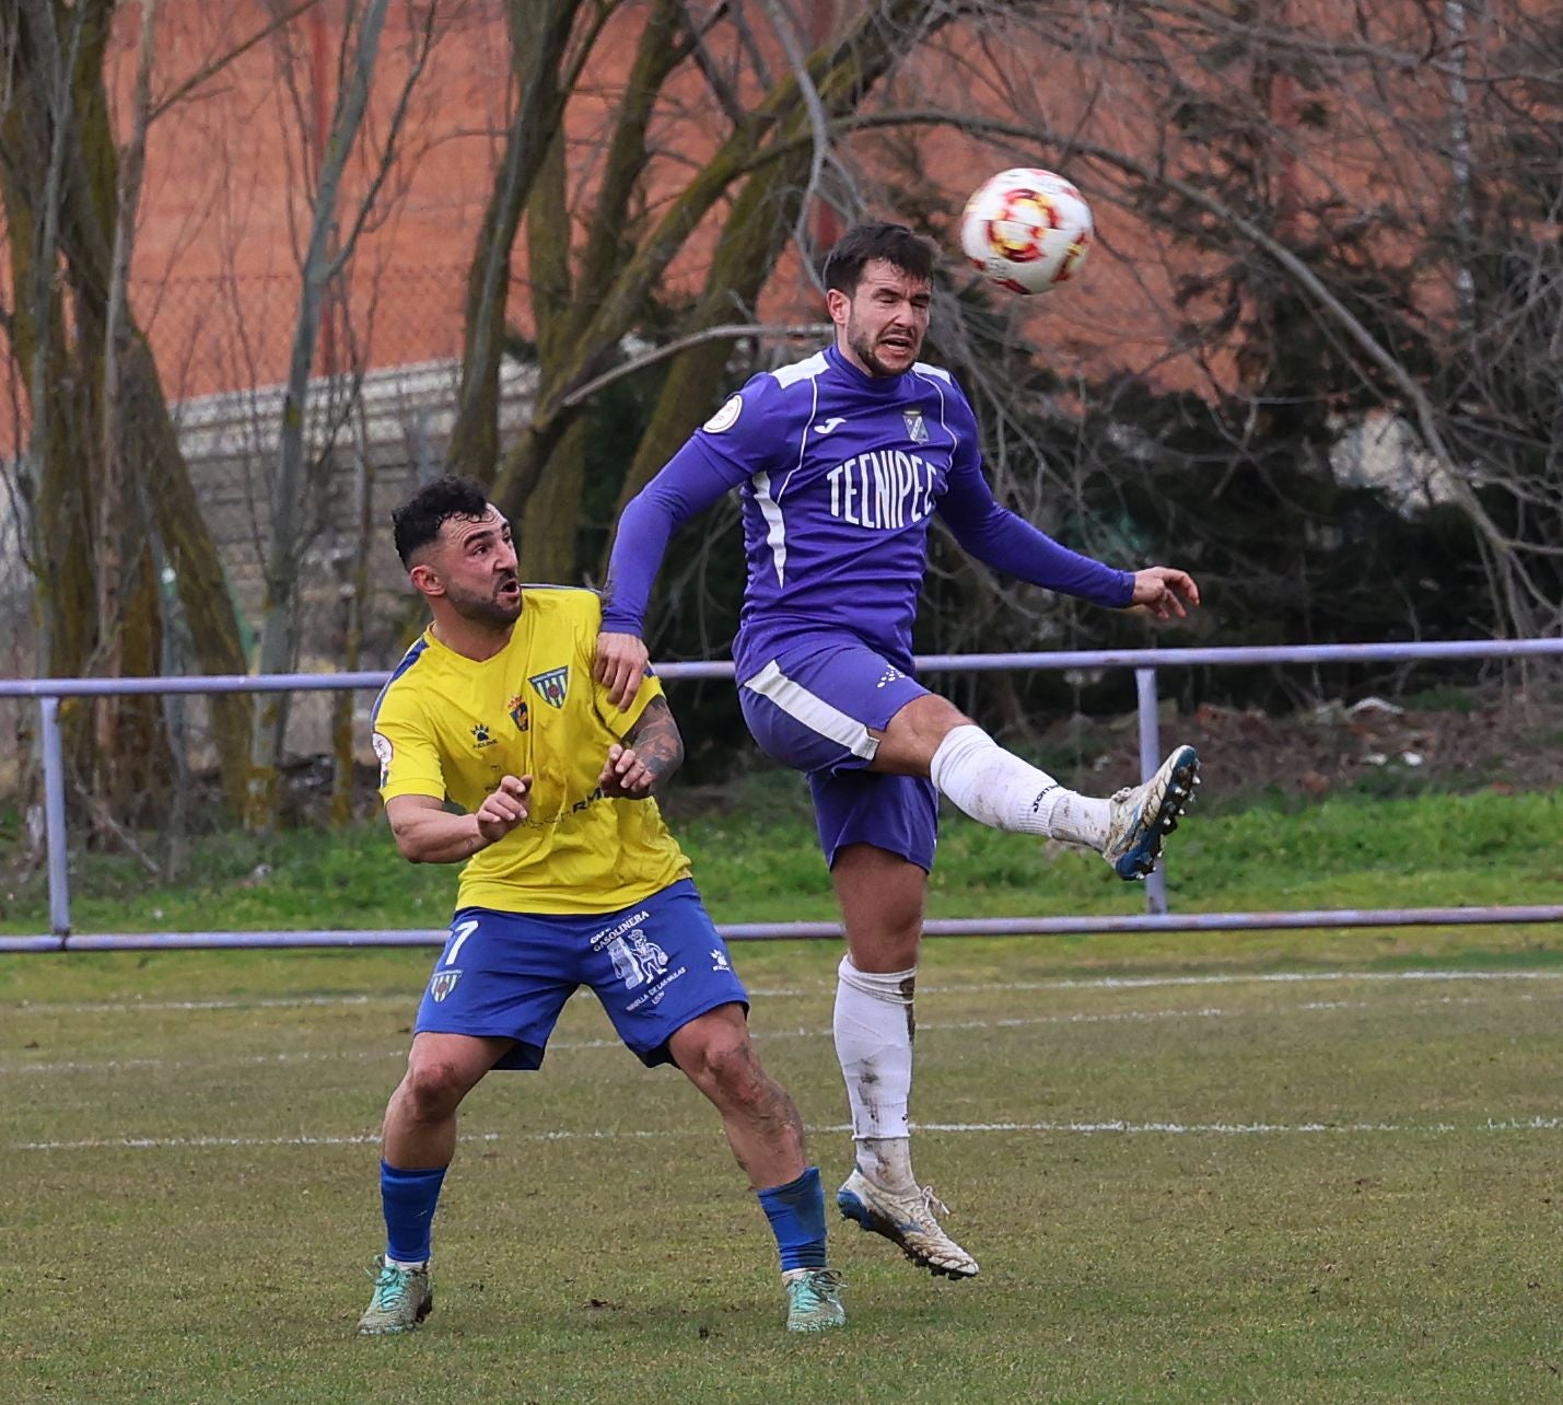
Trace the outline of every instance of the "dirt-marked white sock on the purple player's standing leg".
{"type": "Polygon", "coordinates": [[[863,1172],[891,1191],[914,1186],[907,1125],[911,1100],[911,971],[836,969],[836,1058],[847,1081],[852,1139],[863,1172]]]}

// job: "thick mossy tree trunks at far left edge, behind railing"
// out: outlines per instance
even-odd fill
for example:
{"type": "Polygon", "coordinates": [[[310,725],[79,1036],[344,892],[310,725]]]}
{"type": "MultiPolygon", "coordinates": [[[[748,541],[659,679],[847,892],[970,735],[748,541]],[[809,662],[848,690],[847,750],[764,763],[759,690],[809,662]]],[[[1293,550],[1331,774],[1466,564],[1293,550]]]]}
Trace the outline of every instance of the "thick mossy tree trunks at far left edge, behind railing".
{"type": "MultiPolygon", "coordinates": [[[[28,367],[30,452],[20,486],[42,620],[38,667],[55,675],[156,670],[161,602],[153,553],[145,541],[125,547],[120,538],[144,503],[202,666],[242,670],[216,550],[194,508],[150,350],[123,299],[131,245],[128,233],[122,241],[120,220],[134,205],[136,131],[150,119],[142,86],[122,183],[103,77],[113,14],[111,0],[28,0],[0,13],[0,47],[9,59],[0,197],[19,291],[5,331],[28,367]],[[106,427],[105,413],[117,430],[106,427]],[[105,459],[109,438],[113,467],[105,459]],[[127,505],[123,514],[114,513],[116,500],[127,505]]],[[[153,17],[142,16],[148,34],[153,17]]],[[[247,714],[242,699],[214,710],[234,789],[242,783],[242,745],[234,741],[247,730],[247,714]]],[[[91,710],[69,708],[64,716],[75,774],[89,785],[97,772],[92,728],[84,725],[91,710]]],[[[156,794],[153,778],[166,772],[156,706],[123,703],[117,716],[139,720],[130,735],[114,728],[114,786],[145,803],[156,794]]]]}

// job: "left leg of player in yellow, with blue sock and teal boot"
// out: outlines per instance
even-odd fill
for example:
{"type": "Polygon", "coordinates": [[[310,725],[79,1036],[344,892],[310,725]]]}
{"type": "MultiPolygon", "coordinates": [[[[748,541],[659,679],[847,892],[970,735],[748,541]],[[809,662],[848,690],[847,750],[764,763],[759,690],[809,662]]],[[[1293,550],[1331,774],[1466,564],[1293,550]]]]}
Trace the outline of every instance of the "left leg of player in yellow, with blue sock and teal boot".
{"type": "Polygon", "coordinates": [[[510,1047],[510,1039],[466,1035],[414,1036],[406,1074],[386,1106],[380,1152],[380,1203],[386,1250],[363,1336],[411,1332],[433,1311],[428,1277],[435,1208],[456,1150],[456,1108],[510,1047]]]}

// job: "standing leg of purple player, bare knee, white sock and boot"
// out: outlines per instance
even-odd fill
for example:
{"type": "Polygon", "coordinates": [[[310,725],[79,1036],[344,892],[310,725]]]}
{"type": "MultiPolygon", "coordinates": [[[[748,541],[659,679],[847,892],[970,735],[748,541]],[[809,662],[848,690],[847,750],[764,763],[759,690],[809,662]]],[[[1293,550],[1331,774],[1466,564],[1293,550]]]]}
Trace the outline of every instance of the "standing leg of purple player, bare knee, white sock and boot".
{"type": "Polygon", "coordinates": [[[947,1207],[932,1186],[917,1185],[911,1169],[913,999],[928,875],[872,844],[838,849],[830,872],[847,928],[835,1035],[857,1149],[836,1205],[914,1264],[971,1278],[977,1260],[942,1230],[935,1208],[949,1213],[947,1207]]]}

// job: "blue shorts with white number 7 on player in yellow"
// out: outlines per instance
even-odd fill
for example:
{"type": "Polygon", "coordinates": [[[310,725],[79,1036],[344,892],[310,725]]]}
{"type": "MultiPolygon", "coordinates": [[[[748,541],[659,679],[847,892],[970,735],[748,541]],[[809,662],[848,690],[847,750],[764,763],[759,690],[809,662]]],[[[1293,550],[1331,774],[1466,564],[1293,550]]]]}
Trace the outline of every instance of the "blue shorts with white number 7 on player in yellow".
{"type": "Polygon", "coordinates": [[[591,986],[619,1038],[647,1067],[667,1041],[749,992],[689,878],[617,913],[527,916],[461,908],[435,963],[416,1035],[514,1039],[497,1069],[536,1069],[564,1002],[591,986]]]}

